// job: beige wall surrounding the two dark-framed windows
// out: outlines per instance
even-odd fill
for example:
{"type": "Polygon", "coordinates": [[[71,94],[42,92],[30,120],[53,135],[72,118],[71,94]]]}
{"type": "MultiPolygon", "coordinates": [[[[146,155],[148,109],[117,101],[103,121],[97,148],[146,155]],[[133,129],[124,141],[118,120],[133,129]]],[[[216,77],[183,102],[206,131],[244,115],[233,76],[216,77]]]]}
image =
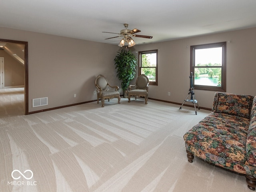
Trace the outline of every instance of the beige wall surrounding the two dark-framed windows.
{"type": "MultiPolygon", "coordinates": [[[[256,28],[250,28],[134,46],[136,52],[158,49],[158,86],[149,87],[149,97],[182,103],[190,87],[190,46],[224,41],[227,42],[226,92],[256,95],[255,34],[256,28]],[[168,96],[167,92],[171,95],[168,96]]],[[[214,92],[194,92],[199,106],[212,108],[214,92]]]]}

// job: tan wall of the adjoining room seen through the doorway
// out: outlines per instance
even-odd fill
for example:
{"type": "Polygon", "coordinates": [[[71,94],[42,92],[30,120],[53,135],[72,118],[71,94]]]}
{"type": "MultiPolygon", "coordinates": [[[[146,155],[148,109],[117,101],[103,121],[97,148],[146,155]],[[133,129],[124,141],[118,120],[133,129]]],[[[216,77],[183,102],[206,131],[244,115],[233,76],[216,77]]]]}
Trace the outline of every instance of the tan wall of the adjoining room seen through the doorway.
{"type": "Polygon", "coordinates": [[[4,87],[24,86],[24,65],[4,50],[0,50],[0,57],[4,58],[4,87]]]}

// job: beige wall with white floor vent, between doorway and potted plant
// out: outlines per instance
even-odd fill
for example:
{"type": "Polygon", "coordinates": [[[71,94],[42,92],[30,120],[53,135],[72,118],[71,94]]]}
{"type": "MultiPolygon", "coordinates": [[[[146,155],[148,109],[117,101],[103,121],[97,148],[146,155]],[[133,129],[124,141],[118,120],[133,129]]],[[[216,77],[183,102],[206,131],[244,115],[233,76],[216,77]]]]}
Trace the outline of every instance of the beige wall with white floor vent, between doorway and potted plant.
{"type": "Polygon", "coordinates": [[[29,112],[97,99],[93,92],[98,74],[120,85],[114,68],[116,45],[1,27],[0,34],[1,39],[28,42],[29,112]],[[32,108],[32,99],[43,97],[48,105],[32,108]]]}

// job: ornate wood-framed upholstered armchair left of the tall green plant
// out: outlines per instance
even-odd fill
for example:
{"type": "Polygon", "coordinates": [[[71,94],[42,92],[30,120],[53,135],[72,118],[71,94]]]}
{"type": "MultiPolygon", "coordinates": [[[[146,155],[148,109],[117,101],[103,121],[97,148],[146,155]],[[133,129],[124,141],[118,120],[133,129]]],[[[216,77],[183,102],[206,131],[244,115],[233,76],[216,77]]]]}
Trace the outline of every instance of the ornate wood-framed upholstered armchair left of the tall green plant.
{"type": "Polygon", "coordinates": [[[99,99],[101,99],[102,107],[104,107],[105,99],[109,101],[112,98],[118,98],[118,104],[120,104],[119,87],[108,84],[106,77],[98,75],[95,79],[95,86],[97,88],[97,103],[99,103],[99,99]]]}

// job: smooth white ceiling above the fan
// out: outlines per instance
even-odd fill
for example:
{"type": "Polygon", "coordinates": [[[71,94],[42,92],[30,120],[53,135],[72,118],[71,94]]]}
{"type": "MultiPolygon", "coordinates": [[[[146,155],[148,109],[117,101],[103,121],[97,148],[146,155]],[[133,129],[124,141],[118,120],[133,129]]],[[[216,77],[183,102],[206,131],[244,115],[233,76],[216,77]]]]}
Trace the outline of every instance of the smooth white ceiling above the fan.
{"type": "MultiPolygon", "coordinates": [[[[256,27],[256,0],[2,0],[0,26],[118,44],[128,29],[162,42],[256,27]]],[[[1,38],[1,34],[0,34],[1,38]]]]}

